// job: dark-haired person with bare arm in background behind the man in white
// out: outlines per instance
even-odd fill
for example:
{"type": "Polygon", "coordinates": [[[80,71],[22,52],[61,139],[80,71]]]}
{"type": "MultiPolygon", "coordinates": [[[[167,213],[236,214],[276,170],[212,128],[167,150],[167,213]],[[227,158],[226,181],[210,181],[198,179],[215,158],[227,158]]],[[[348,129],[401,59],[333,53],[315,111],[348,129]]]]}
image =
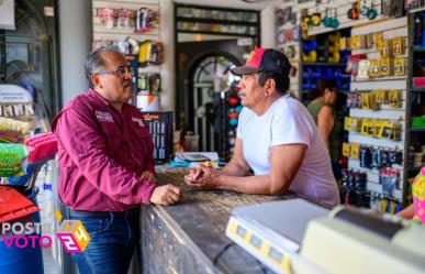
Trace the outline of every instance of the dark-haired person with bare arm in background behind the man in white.
{"type": "Polygon", "coordinates": [[[335,80],[321,80],[311,91],[307,110],[317,124],[317,130],[329,150],[334,176],[339,174],[344,127],[335,116],[338,86],[335,80]]]}

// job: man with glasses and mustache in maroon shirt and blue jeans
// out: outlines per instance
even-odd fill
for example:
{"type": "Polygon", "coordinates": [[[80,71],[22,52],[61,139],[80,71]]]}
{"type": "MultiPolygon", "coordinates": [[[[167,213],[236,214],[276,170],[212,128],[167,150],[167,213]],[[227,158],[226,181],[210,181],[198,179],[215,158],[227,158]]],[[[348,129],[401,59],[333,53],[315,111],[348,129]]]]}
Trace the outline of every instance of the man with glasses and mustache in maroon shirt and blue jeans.
{"type": "Polygon", "coordinates": [[[114,47],[86,62],[87,95],[67,103],[52,128],[58,140],[59,198],[91,241],[72,255],[80,274],[127,273],[141,204],[171,205],[178,187],[157,186],[153,142],[141,111],[128,105],[132,70],[114,47]]]}

